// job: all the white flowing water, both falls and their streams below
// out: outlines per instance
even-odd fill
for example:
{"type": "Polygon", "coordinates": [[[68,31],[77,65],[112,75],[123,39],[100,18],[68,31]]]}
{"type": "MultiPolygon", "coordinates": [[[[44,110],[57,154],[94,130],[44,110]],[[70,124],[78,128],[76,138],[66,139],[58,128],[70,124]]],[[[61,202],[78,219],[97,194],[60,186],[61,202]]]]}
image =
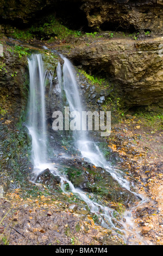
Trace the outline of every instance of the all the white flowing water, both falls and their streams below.
{"type": "MultiPolygon", "coordinates": [[[[66,94],[66,99],[70,107],[71,112],[78,111],[82,113],[82,103],[80,101],[78,84],[74,75],[73,66],[70,61],[61,56],[64,60],[63,67],[58,64],[57,75],[60,90],[64,90],[66,94]]],[[[124,212],[122,218],[126,218],[126,222],[120,221],[122,225],[121,228],[117,228],[114,224],[114,212],[115,210],[106,207],[105,205],[93,202],[89,198],[89,193],[86,193],[79,188],[75,188],[70,180],[67,179],[66,175],[60,172],[60,169],[55,163],[49,163],[47,161],[47,131],[46,131],[46,107],[45,107],[45,87],[46,87],[46,71],[43,67],[43,62],[41,54],[32,54],[28,59],[29,65],[29,75],[30,75],[30,94],[29,94],[29,117],[27,121],[27,127],[29,134],[32,136],[32,160],[34,164],[35,176],[39,175],[43,170],[48,168],[54,175],[59,175],[61,179],[61,188],[65,192],[65,181],[69,184],[72,193],[77,194],[81,200],[89,207],[90,211],[95,213],[97,216],[102,217],[103,227],[110,228],[120,231],[121,237],[124,242],[127,241],[128,236],[132,235],[130,238],[130,243],[135,244],[140,242],[141,244],[148,244],[149,242],[142,239],[139,234],[139,229],[134,224],[134,218],[131,211],[134,208],[129,209],[124,212]],[[136,238],[135,238],[136,237],[136,238]]],[[[52,86],[52,80],[50,81],[52,86]]],[[[55,99],[54,99],[55,100],[55,99]]],[[[81,122],[80,116],[77,117],[77,121],[81,122]]],[[[109,172],[118,183],[126,188],[126,190],[134,193],[137,198],[139,198],[140,205],[146,203],[146,198],[143,198],[140,194],[132,192],[130,190],[130,182],[123,178],[123,173],[120,170],[114,169],[110,166],[99,150],[97,144],[90,141],[87,138],[85,131],[73,131],[73,139],[75,147],[80,151],[82,157],[85,161],[94,164],[96,167],[102,167],[109,172]],[[140,200],[141,198],[141,200],[140,200]]],[[[137,208],[137,206],[136,206],[137,208]]]]}

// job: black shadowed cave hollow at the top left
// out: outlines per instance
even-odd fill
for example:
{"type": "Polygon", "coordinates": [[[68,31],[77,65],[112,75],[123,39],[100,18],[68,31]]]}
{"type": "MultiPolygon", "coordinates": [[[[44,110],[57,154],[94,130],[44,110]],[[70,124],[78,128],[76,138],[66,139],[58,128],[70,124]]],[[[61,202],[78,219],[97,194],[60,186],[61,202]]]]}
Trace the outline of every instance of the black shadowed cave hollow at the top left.
{"type": "Polygon", "coordinates": [[[11,25],[18,29],[27,29],[31,26],[43,26],[48,21],[48,17],[54,16],[59,22],[68,29],[90,32],[86,14],[80,9],[81,3],[74,1],[61,1],[53,3],[51,6],[36,11],[33,15],[26,17],[25,21],[22,17],[8,19],[8,17],[0,17],[1,24],[11,25]]]}

